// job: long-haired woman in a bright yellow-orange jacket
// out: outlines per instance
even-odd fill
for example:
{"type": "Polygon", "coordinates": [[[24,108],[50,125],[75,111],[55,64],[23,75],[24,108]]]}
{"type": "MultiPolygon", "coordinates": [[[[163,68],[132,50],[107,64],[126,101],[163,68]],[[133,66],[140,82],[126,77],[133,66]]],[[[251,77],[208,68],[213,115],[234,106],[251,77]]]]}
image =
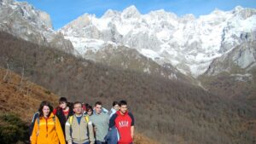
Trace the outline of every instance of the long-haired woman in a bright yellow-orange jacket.
{"type": "Polygon", "coordinates": [[[32,144],[65,144],[60,121],[52,113],[53,107],[43,101],[38,108],[39,117],[32,131],[32,144]]]}

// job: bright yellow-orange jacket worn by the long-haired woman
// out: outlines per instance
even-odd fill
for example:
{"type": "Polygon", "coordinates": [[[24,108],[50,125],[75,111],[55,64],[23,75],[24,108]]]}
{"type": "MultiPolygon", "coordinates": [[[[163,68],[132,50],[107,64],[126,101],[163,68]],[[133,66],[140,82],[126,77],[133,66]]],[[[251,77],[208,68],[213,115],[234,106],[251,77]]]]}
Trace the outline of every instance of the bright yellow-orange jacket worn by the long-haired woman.
{"type": "Polygon", "coordinates": [[[32,144],[66,144],[60,121],[50,113],[49,118],[40,117],[32,131],[32,144]]]}

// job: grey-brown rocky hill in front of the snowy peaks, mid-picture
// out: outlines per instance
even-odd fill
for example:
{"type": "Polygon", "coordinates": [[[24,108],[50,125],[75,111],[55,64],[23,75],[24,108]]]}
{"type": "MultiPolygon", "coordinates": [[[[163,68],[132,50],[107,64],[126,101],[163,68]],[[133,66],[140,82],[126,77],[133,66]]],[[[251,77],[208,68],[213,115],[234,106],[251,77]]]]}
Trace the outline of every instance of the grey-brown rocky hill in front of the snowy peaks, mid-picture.
{"type": "Polygon", "coordinates": [[[184,76],[172,65],[160,66],[154,60],[140,54],[137,49],[130,49],[125,46],[108,44],[96,52],[88,50],[86,57],[108,66],[130,69],[137,72],[144,72],[150,75],[164,78],[190,82],[191,78],[184,76]]]}

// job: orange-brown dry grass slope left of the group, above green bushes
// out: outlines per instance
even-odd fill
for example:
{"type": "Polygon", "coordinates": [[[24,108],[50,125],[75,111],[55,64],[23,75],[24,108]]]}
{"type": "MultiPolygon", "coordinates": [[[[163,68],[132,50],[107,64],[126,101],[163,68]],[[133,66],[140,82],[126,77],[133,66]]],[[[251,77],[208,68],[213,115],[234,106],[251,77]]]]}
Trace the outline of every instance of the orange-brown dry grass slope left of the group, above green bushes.
{"type": "Polygon", "coordinates": [[[20,84],[20,76],[9,72],[7,80],[3,80],[6,70],[0,68],[0,112],[14,112],[26,122],[37,111],[41,101],[51,101],[55,105],[58,96],[43,87],[23,80],[20,84]]]}

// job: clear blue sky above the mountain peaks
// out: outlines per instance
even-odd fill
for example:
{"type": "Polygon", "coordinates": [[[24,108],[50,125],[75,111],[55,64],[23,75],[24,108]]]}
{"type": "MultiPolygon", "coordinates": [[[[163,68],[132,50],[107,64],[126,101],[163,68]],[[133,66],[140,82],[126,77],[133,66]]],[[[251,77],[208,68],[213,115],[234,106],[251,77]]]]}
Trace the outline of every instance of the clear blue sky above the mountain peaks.
{"type": "Polygon", "coordinates": [[[141,14],[151,10],[165,9],[178,16],[183,14],[210,14],[214,9],[230,10],[237,5],[256,8],[256,0],[19,0],[31,3],[35,8],[47,12],[55,29],[65,26],[84,13],[101,17],[108,9],[122,11],[135,5],[141,14]]]}

